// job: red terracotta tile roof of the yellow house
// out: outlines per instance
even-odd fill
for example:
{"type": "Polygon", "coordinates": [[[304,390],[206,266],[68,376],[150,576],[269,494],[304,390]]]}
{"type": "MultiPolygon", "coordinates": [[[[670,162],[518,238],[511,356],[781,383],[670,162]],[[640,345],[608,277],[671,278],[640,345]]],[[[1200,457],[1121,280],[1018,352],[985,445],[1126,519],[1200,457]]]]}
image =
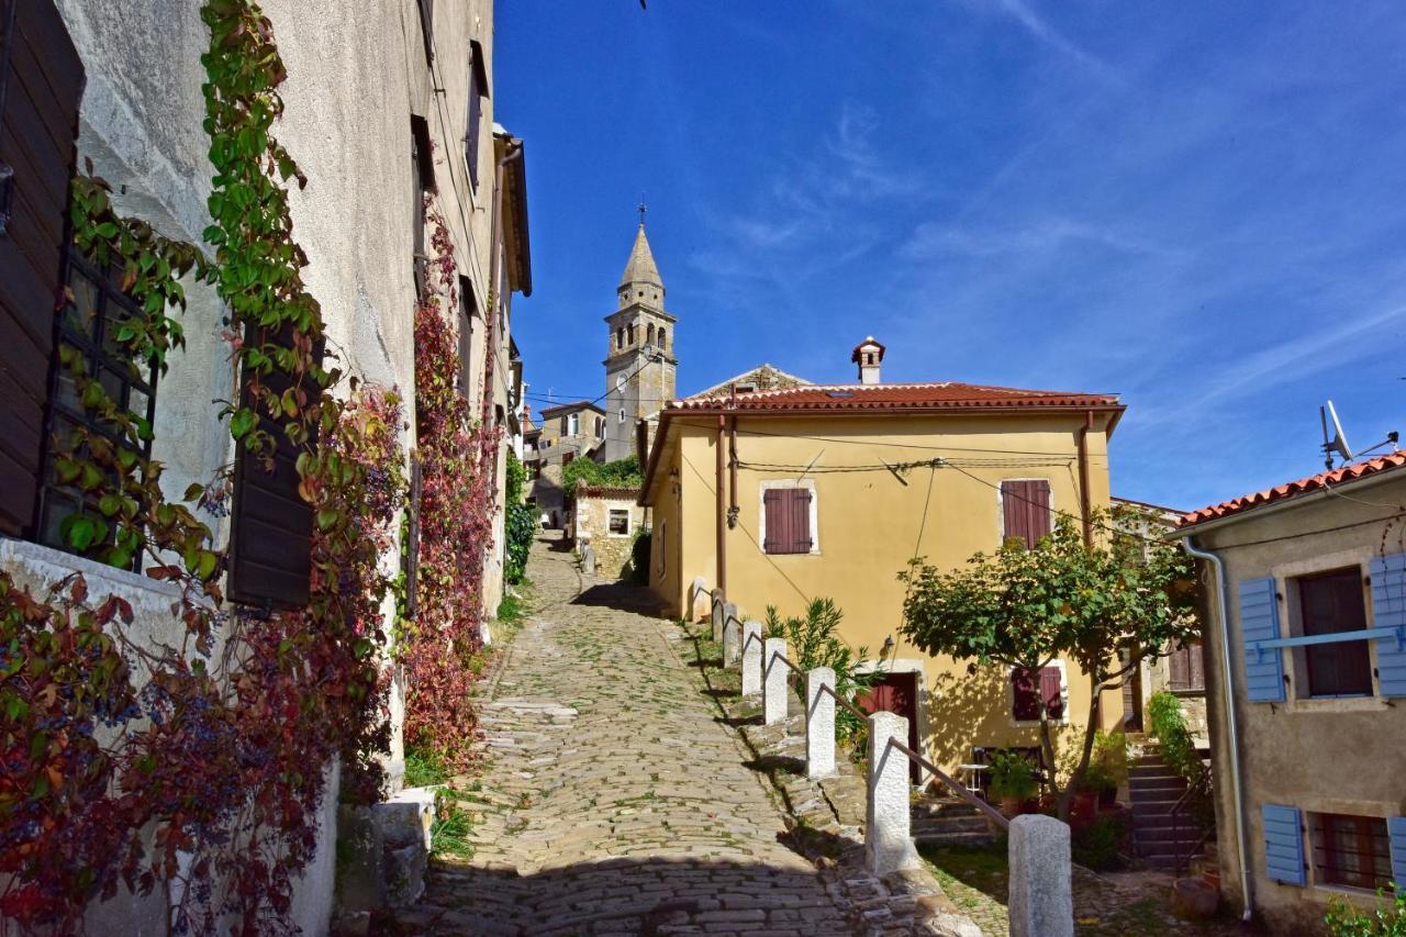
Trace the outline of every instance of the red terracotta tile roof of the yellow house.
{"type": "MultiPolygon", "coordinates": [[[[711,411],[728,397],[669,401],[665,411],[711,411]]],[[[728,412],[966,409],[1008,407],[1121,407],[1116,394],[1021,390],[983,384],[811,384],[741,394],[728,412]]]]}

